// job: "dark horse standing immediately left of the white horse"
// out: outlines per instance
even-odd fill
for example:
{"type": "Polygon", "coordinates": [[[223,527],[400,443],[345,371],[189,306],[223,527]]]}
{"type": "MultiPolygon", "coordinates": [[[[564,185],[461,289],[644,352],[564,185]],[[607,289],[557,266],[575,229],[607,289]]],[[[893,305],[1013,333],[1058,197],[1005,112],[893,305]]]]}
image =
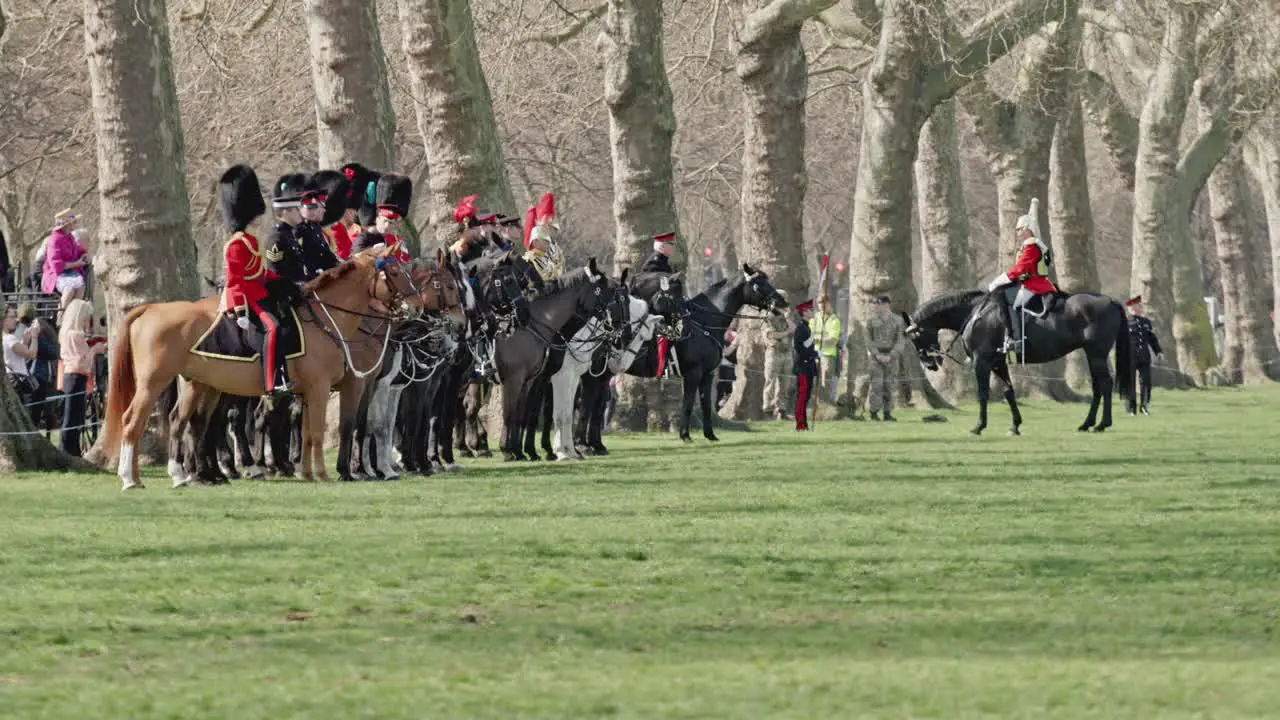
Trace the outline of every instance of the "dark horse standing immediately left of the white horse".
{"type": "Polygon", "coordinates": [[[529,304],[529,319],[524,327],[499,336],[495,342],[494,365],[503,400],[502,454],[508,461],[529,459],[521,441],[530,429],[531,410],[540,407],[534,391],[549,347],[563,345],[608,300],[609,278],[596,268],[595,258],[586,268],[564,273],[554,284],[548,295],[529,304]]]}

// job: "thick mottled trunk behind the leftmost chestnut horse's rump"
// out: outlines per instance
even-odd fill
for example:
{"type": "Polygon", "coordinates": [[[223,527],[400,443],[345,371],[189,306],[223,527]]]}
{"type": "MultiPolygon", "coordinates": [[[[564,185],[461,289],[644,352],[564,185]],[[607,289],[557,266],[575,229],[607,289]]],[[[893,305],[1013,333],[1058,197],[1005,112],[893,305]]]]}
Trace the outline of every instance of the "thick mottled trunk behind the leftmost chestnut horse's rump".
{"type": "Polygon", "coordinates": [[[86,0],[84,45],[101,195],[95,268],[116,327],[137,305],[198,295],[165,1],[86,0]]]}

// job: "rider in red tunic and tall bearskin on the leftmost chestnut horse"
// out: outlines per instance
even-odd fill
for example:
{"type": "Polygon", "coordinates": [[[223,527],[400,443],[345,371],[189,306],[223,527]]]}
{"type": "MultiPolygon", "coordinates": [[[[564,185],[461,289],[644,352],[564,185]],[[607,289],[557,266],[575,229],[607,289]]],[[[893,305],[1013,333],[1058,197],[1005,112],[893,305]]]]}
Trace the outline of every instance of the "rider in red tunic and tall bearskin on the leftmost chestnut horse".
{"type": "Polygon", "coordinates": [[[284,357],[276,354],[279,324],[261,302],[266,300],[266,283],[278,275],[268,266],[256,237],[248,233],[250,224],[266,213],[262,190],[252,168],[236,165],[218,181],[219,202],[227,228],[232,231],[230,240],[223,249],[227,272],[223,290],[221,310],[236,314],[236,324],[248,329],[248,314],[253,313],[266,331],[262,347],[262,369],[265,387],[270,392],[289,392],[284,357]]]}

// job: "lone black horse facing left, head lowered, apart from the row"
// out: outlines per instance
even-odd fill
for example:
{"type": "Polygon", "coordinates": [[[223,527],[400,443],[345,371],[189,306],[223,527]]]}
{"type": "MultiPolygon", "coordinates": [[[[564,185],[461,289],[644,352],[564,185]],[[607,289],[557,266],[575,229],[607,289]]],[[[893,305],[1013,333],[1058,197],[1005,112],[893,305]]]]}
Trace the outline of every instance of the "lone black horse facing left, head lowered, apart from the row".
{"type": "MultiPolygon", "coordinates": [[[[952,292],[922,305],[911,316],[906,336],[931,370],[937,370],[943,357],[938,331],[955,331],[964,342],[965,352],[973,361],[978,378],[978,424],[970,430],[980,434],[987,428],[987,402],[991,400],[991,373],[1005,384],[1005,400],[1012,414],[1010,434],[1019,434],[1021,413],[1014,400],[1014,386],[1009,378],[1009,361],[1001,348],[1005,340],[1005,320],[1000,300],[979,290],[952,292]]],[[[1023,336],[1023,361],[1028,364],[1052,363],[1073,350],[1083,348],[1089,360],[1089,378],[1093,401],[1080,432],[1093,429],[1101,433],[1111,427],[1111,392],[1115,386],[1107,355],[1116,348],[1116,373],[1120,389],[1133,396],[1133,359],[1129,345],[1129,320],[1124,307],[1105,295],[1079,292],[1057,293],[1050,309],[1041,318],[1027,316],[1023,336]],[[1102,404],[1102,421],[1097,421],[1098,404],[1102,404]]],[[[956,360],[952,357],[952,360],[956,360]]],[[[957,360],[959,361],[959,360],[957,360]]]]}

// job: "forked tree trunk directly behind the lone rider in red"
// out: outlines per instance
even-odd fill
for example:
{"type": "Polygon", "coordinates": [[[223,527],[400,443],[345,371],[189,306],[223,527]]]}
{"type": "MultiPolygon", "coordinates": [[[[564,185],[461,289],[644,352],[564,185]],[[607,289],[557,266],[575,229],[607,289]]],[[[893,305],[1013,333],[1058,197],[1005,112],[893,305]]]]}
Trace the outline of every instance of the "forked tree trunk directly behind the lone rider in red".
{"type": "MultiPolygon", "coordinates": [[[[1012,265],[1021,251],[1015,223],[1027,213],[1032,199],[1047,199],[1050,156],[1059,115],[1070,97],[1070,63],[1079,47],[1079,1],[1068,0],[1064,14],[1044,37],[1028,41],[1030,47],[1019,68],[1014,99],[1005,99],[977,78],[965,90],[965,106],[974,119],[987,164],[996,177],[1000,208],[1001,270],[1012,265]]],[[[1085,186],[1088,202],[1088,186],[1085,186]]],[[[1037,222],[1041,238],[1053,247],[1048,204],[1041,205],[1037,222]]],[[[1078,400],[1065,379],[1066,364],[1047,363],[1021,368],[1019,392],[1046,395],[1053,400],[1078,400]]]]}

